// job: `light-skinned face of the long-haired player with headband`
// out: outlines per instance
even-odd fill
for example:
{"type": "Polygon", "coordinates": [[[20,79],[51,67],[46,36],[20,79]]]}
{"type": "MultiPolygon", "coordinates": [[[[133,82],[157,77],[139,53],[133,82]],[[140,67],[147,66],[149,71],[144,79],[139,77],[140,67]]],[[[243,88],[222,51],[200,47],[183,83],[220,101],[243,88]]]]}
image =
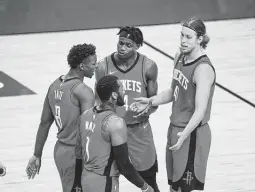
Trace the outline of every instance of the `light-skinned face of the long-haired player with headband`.
{"type": "Polygon", "coordinates": [[[182,27],[180,49],[184,54],[190,54],[195,48],[200,46],[200,39],[197,38],[197,33],[188,28],[182,27]]]}

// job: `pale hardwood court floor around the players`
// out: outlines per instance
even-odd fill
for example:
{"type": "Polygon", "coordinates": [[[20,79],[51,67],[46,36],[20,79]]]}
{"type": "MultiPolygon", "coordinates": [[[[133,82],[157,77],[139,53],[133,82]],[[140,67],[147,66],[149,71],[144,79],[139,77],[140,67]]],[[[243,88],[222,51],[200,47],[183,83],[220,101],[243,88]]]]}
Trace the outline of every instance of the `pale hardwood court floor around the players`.
{"type": "MultiPolygon", "coordinates": [[[[217,82],[255,102],[255,19],[207,22],[211,42],[207,53],[217,82]]],[[[174,55],[180,25],[142,27],[145,39],[174,55]]],[[[40,175],[25,174],[32,155],[43,100],[49,84],[66,73],[66,55],[73,44],[93,43],[99,59],[116,49],[116,29],[64,33],[0,36],[0,71],[4,71],[37,95],[0,98],[0,161],[7,175],[0,178],[0,192],[61,191],[53,160],[56,126],[53,125],[43,151],[40,175]]],[[[159,92],[170,86],[173,61],[144,45],[141,52],[157,62],[159,92]]],[[[94,79],[86,79],[93,86],[94,79]]],[[[151,117],[157,147],[162,192],[168,191],[165,144],[171,104],[151,117]]],[[[212,147],[208,162],[206,192],[255,191],[255,109],[229,93],[215,90],[210,126],[212,147]]],[[[140,191],[121,177],[120,191],[140,191]]]]}

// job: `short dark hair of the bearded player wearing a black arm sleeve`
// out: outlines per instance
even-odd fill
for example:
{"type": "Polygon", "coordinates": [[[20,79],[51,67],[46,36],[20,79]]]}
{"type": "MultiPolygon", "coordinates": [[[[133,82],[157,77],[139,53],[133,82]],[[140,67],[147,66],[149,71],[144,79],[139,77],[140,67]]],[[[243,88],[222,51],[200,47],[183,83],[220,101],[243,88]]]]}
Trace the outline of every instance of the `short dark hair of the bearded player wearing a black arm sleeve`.
{"type": "Polygon", "coordinates": [[[112,92],[118,92],[119,87],[118,77],[114,75],[106,75],[97,82],[97,95],[102,102],[109,101],[112,92]]]}

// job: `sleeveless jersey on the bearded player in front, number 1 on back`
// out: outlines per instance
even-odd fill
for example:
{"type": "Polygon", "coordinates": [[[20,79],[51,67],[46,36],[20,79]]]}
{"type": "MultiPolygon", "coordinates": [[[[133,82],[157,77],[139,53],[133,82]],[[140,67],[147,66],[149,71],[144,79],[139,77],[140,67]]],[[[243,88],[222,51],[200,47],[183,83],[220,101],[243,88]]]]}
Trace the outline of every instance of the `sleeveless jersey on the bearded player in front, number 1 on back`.
{"type": "Polygon", "coordinates": [[[104,121],[113,114],[111,110],[99,111],[94,107],[84,112],[79,122],[84,168],[103,176],[119,176],[110,135],[103,127],[104,121]]]}

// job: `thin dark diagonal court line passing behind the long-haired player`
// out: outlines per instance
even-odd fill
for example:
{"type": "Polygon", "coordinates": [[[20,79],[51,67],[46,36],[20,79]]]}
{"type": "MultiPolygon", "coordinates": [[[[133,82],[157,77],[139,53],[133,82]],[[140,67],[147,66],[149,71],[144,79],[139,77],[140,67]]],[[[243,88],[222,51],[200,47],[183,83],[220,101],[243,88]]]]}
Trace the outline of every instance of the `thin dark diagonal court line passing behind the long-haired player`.
{"type": "MultiPolygon", "coordinates": [[[[150,48],[154,49],[155,51],[161,53],[162,55],[168,57],[171,60],[174,60],[174,57],[172,57],[171,55],[167,54],[166,52],[160,50],[159,48],[157,48],[156,46],[152,45],[151,43],[149,43],[148,41],[143,41],[144,44],[146,44],[147,46],[149,46],[150,48]]],[[[216,86],[218,86],[219,88],[223,89],[224,91],[230,93],[231,95],[233,95],[234,97],[240,99],[241,101],[247,103],[248,105],[252,106],[253,108],[255,108],[255,104],[252,103],[251,101],[249,101],[248,99],[245,99],[244,97],[242,97],[241,95],[238,95],[237,93],[231,91],[230,89],[226,88],[225,86],[219,84],[219,83],[215,83],[216,86]]]]}

